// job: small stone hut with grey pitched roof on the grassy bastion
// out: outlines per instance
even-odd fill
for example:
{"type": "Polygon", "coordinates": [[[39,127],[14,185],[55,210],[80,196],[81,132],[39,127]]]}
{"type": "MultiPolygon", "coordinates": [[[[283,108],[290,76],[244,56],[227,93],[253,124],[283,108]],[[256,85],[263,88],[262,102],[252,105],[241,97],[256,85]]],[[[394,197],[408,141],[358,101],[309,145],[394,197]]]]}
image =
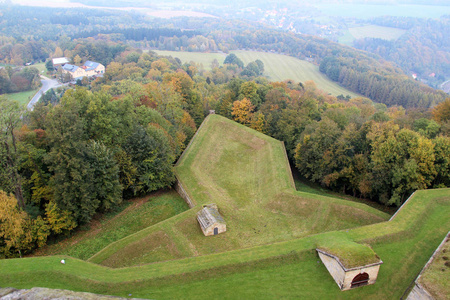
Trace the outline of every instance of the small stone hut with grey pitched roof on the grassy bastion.
{"type": "Polygon", "coordinates": [[[227,231],[227,224],[220,215],[216,204],[204,205],[197,213],[197,220],[205,236],[227,231]]]}

